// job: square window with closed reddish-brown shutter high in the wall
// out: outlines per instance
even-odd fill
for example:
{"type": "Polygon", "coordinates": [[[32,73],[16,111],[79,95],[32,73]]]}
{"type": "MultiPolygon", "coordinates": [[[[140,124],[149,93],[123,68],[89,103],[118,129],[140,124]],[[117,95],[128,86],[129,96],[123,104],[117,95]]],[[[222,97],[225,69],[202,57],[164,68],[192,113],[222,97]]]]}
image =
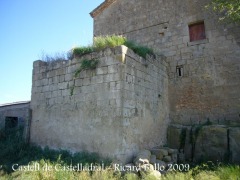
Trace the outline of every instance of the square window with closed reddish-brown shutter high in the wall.
{"type": "Polygon", "coordinates": [[[189,25],[190,42],[206,39],[204,21],[189,25]]]}

